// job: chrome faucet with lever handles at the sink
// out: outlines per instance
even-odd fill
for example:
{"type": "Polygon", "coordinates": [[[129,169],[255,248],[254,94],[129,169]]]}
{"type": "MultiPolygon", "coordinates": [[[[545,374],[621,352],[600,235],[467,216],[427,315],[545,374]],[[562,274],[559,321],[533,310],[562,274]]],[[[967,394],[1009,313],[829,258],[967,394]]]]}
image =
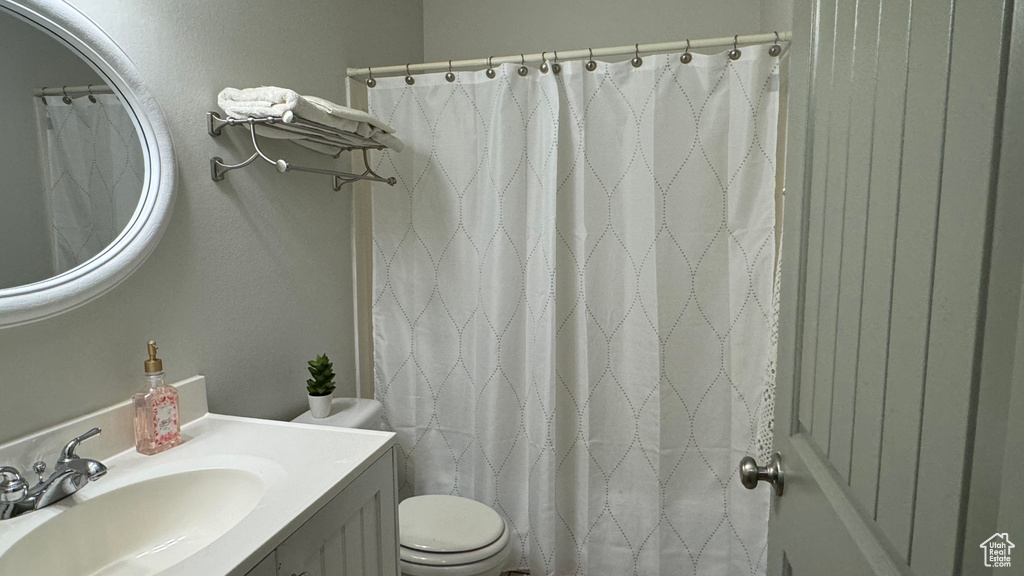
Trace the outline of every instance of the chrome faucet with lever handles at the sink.
{"type": "Polygon", "coordinates": [[[36,462],[32,469],[39,476],[39,483],[32,488],[29,488],[17,468],[0,466],[0,520],[44,508],[106,474],[106,466],[102,462],[81,458],[76,453],[79,444],[99,431],[99,428],[92,428],[69,442],[57,457],[53,474],[45,480],[43,472],[46,471],[46,463],[36,462]]]}

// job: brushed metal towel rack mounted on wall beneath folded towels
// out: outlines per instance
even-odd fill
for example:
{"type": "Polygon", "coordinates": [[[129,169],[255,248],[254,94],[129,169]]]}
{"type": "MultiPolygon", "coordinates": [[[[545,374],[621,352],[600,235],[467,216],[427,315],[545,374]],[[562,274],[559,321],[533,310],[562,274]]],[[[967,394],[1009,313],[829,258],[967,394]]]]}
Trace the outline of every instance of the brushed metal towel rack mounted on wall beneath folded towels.
{"type": "Polygon", "coordinates": [[[219,156],[211,158],[210,177],[214,181],[219,182],[220,180],[223,180],[225,173],[238,168],[245,168],[257,159],[262,159],[270,164],[273,164],[274,167],[278,168],[278,171],[282,173],[296,171],[333,176],[335,191],[339,191],[341,190],[341,187],[358,180],[384,182],[388,186],[394,186],[397,181],[394,177],[385,178],[384,176],[381,176],[377,172],[374,172],[374,170],[370,167],[370,158],[368,156],[369,151],[385,150],[387,148],[386,146],[353,132],[337,130],[329,126],[324,126],[323,124],[317,124],[315,122],[299,118],[290,111],[285,112],[285,114],[280,117],[265,116],[260,118],[221,118],[221,116],[216,112],[208,112],[206,113],[206,118],[208,131],[210,135],[214,137],[221,134],[221,129],[224,126],[242,126],[248,128],[254,151],[252,156],[242,162],[239,162],[238,164],[226,164],[224,163],[224,159],[219,156]],[[361,151],[362,165],[366,166],[367,169],[356,174],[353,172],[328,170],[325,168],[297,166],[283,159],[273,160],[260,150],[259,140],[257,138],[257,126],[278,130],[287,134],[282,136],[280,139],[303,140],[316,145],[322,149],[337,149],[338,152],[333,155],[334,158],[340,157],[342,153],[345,152],[353,152],[356,150],[361,151]]]}

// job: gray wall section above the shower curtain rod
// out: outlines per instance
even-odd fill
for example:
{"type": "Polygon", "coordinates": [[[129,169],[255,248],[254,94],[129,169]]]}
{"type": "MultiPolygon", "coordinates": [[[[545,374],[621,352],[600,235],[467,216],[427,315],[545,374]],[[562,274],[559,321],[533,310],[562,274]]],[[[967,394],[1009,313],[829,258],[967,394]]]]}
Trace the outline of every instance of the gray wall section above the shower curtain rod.
{"type": "Polygon", "coordinates": [[[423,0],[423,52],[432,61],[756,34],[790,30],[792,14],[793,0],[423,0]]]}

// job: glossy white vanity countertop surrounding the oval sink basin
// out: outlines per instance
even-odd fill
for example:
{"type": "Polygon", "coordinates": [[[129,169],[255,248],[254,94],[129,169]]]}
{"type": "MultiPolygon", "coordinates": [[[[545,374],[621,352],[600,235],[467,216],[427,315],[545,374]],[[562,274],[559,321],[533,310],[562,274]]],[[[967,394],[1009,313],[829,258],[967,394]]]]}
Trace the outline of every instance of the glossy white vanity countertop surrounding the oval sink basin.
{"type": "MultiPolygon", "coordinates": [[[[0,521],[0,554],[76,502],[152,478],[237,468],[255,474],[263,483],[265,491],[255,508],[212,543],[160,574],[244,575],[394,445],[392,433],[217,414],[186,423],[182,437],[180,446],[155,456],[131,449],[101,458],[109,470],[103,478],[63,501],[0,521]]],[[[89,456],[88,448],[83,444],[80,454],[89,456]]],[[[96,518],[97,529],[105,521],[96,518]]],[[[53,549],[60,549],[59,542],[53,549]]]]}

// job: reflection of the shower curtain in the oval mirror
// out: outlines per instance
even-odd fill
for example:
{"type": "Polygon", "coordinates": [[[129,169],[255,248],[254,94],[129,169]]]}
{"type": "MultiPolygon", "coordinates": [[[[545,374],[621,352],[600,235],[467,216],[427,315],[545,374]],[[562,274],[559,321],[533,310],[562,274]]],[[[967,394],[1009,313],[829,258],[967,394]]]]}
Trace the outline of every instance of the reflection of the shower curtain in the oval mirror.
{"type": "Polygon", "coordinates": [[[106,248],[138,205],[145,166],[132,119],[117,96],[95,102],[37,104],[47,183],[53,272],[61,274],[106,248]]]}

